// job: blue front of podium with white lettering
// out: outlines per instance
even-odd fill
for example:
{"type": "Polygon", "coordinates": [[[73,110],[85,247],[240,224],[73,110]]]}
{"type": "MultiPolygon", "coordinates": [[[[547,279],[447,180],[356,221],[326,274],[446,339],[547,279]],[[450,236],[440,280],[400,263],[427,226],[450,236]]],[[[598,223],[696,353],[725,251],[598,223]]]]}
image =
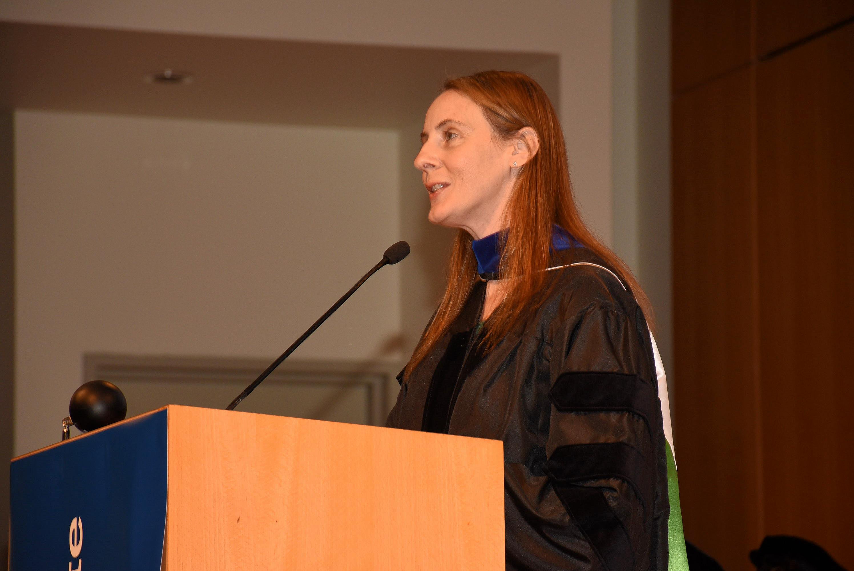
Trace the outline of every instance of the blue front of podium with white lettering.
{"type": "Polygon", "coordinates": [[[10,475],[12,571],[161,568],[166,410],[23,456],[10,475]]]}

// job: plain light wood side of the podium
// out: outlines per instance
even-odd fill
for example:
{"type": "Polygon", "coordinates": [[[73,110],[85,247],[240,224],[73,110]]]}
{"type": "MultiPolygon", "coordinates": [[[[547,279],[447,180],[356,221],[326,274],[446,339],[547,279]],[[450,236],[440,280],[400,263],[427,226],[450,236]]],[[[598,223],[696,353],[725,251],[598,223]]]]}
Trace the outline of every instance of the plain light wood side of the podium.
{"type": "Polygon", "coordinates": [[[505,567],[498,440],[167,411],[168,571],[505,567]]]}

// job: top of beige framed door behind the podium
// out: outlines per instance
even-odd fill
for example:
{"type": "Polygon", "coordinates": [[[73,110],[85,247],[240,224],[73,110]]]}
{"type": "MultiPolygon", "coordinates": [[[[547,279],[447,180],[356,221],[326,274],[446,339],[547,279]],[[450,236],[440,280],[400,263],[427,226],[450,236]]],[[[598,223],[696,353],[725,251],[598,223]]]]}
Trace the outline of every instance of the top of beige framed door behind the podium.
{"type": "MultiPolygon", "coordinates": [[[[403,333],[388,333],[357,360],[286,359],[240,410],[383,426],[400,389],[403,333]]],[[[107,380],[125,394],[128,416],[167,404],[221,409],[272,361],[263,358],[85,353],[84,382],[107,380]]]]}

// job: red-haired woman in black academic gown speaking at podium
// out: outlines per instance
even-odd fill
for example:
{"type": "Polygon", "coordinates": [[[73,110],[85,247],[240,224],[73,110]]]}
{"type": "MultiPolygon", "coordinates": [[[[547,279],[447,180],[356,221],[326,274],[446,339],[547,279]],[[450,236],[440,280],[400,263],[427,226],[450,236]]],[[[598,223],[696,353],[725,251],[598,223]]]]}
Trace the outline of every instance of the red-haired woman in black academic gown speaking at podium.
{"type": "Polygon", "coordinates": [[[449,79],[421,141],[459,232],[387,426],[504,442],[507,569],[687,569],[650,304],[578,214],[545,92],[449,79]]]}

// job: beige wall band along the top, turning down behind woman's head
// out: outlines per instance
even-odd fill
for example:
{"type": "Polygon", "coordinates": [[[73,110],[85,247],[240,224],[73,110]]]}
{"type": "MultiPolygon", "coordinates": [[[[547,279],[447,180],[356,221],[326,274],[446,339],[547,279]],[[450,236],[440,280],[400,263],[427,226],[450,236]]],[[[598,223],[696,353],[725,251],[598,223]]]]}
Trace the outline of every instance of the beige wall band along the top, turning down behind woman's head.
{"type": "Polygon", "coordinates": [[[611,243],[611,3],[432,0],[210,3],[6,0],[0,20],[330,43],[545,52],[586,220],[611,243]]]}

